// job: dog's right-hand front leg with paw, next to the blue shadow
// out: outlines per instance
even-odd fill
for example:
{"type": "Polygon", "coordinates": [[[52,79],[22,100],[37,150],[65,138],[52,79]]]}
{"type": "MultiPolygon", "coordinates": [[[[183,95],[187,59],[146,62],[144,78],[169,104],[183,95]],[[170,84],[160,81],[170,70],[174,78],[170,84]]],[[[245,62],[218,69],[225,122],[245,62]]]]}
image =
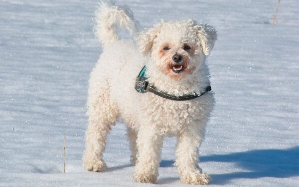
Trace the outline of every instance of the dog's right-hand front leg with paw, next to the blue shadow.
{"type": "Polygon", "coordinates": [[[198,167],[198,147],[203,135],[197,130],[188,129],[177,137],[175,165],[178,166],[180,181],[192,185],[207,185],[211,182],[209,175],[202,173],[198,167]]]}

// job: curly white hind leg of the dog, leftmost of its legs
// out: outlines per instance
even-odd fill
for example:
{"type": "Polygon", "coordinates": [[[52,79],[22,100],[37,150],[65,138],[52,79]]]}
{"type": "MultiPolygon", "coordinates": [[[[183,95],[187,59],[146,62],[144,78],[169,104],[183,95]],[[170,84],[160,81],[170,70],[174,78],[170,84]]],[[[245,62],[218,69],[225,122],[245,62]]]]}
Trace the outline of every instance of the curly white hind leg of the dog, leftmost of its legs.
{"type": "Polygon", "coordinates": [[[117,120],[118,108],[111,101],[109,83],[101,86],[96,83],[97,81],[90,80],[87,102],[89,125],[85,134],[86,150],[83,156],[83,166],[89,171],[100,172],[106,169],[102,155],[107,142],[107,134],[111,130],[111,125],[114,125],[117,120]]]}

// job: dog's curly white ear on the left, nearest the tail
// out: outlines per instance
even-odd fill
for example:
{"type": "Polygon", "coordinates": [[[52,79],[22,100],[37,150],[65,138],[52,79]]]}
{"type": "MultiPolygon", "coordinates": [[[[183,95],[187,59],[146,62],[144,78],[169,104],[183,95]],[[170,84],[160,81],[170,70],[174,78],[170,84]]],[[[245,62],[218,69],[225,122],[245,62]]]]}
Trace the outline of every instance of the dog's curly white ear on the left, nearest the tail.
{"type": "Polygon", "coordinates": [[[154,25],[153,28],[145,30],[137,36],[136,41],[138,42],[140,51],[144,56],[148,56],[151,53],[153,40],[157,37],[157,33],[160,29],[161,23],[158,23],[154,25]]]}

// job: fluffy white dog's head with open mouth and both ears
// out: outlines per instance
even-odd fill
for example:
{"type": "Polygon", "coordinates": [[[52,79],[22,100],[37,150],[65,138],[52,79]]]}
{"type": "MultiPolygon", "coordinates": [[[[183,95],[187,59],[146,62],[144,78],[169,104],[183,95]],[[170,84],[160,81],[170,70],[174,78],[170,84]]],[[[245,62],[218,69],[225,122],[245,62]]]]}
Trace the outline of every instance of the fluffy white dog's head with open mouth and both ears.
{"type": "Polygon", "coordinates": [[[212,26],[194,19],[156,24],[142,32],[137,41],[141,52],[150,56],[155,66],[174,80],[192,74],[210,54],[217,32],[212,26]]]}

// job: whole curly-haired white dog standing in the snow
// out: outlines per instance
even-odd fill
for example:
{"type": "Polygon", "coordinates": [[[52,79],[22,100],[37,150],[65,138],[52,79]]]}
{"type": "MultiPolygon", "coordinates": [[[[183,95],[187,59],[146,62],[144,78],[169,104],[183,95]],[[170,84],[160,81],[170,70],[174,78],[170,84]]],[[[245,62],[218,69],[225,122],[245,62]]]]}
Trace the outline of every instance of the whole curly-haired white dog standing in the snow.
{"type": "Polygon", "coordinates": [[[89,80],[84,167],[105,170],[106,137],[121,117],[128,125],[135,181],[155,183],[163,137],[176,136],[180,181],[208,184],[211,178],[197,163],[214,105],[205,59],[215,29],[194,19],[161,21],[141,32],[137,42],[120,40],[116,27],[134,33],[138,22],[127,6],[107,2],[100,4],[96,21],[103,53],[89,80]]]}

